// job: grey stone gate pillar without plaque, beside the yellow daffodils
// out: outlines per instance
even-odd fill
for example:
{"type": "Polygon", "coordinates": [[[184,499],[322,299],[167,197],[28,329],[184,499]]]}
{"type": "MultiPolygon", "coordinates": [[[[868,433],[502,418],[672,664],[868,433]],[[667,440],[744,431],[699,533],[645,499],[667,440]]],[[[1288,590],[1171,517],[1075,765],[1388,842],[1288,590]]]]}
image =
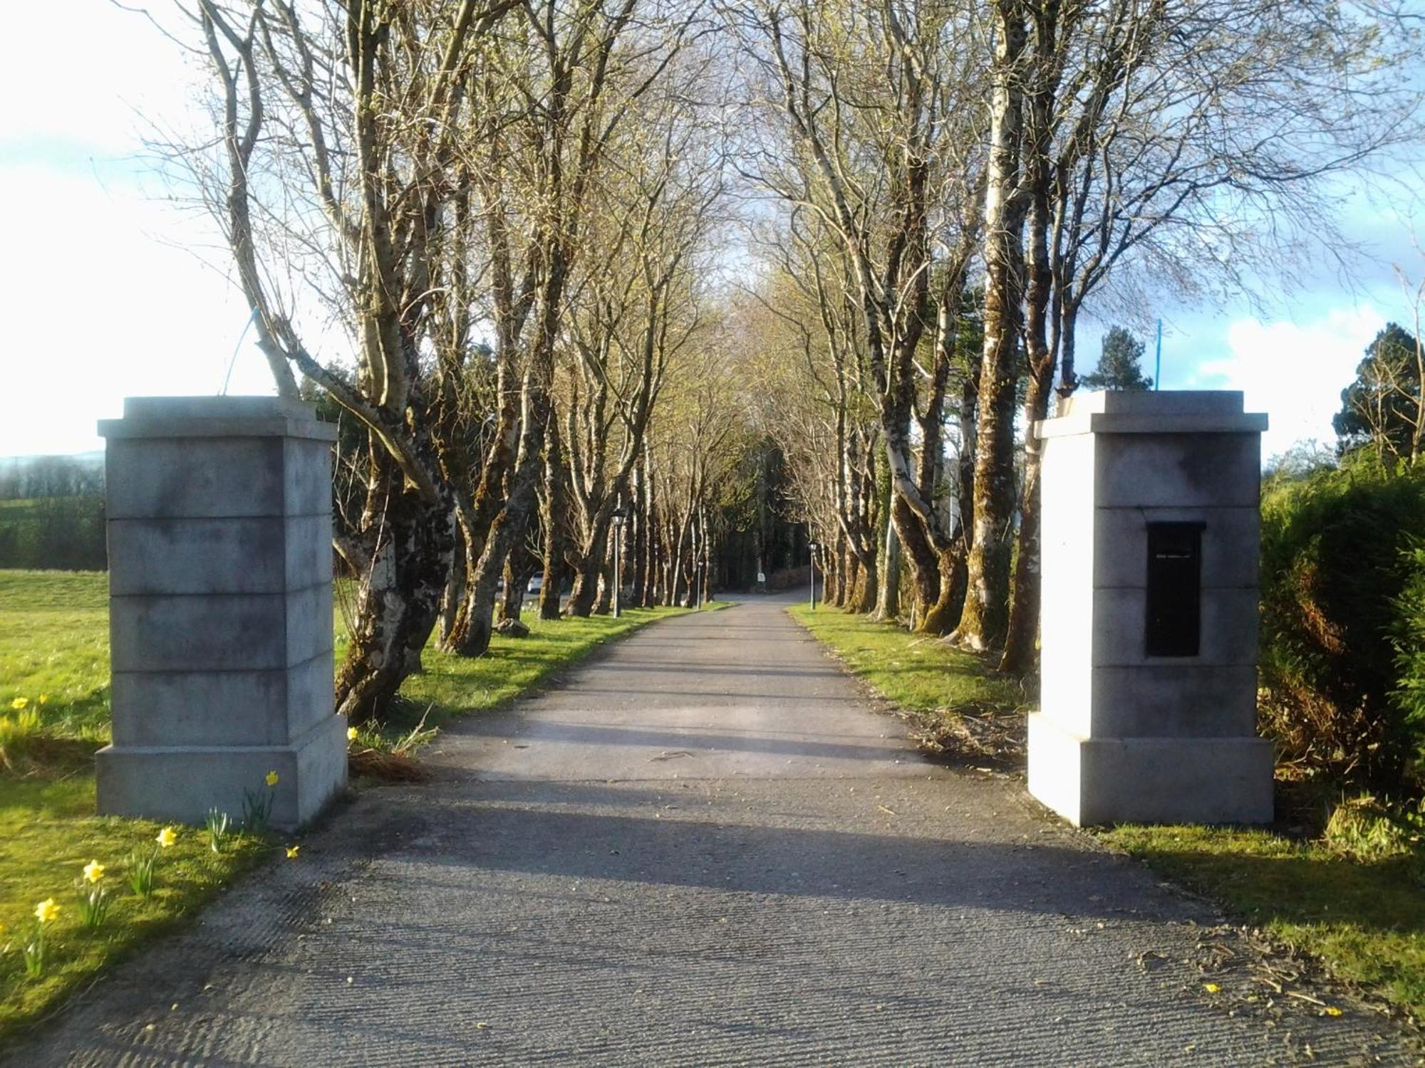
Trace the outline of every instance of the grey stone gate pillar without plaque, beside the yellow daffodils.
{"type": "Polygon", "coordinates": [[[98,810],[306,823],[346,782],[332,698],[336,430],[281,397],[128,397],[105,450],[113,745],[98,810]],[[276,772],[276,786],[265,779],[276,772]]]}

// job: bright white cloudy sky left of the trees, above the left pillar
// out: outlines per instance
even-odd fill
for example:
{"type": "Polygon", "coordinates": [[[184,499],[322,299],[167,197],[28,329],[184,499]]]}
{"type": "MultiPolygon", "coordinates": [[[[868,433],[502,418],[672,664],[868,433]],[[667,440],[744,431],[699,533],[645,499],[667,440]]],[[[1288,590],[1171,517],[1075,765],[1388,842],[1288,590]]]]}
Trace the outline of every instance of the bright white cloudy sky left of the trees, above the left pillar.
{"type": "MultiPolygon", "coordinates": [[[[190,57],[100,0],[10,4],[6,30],[24,47],[0,64],[0,456],[97,449],[124,396],[219,392],[248,308],[190,251],[212,224],[138,188],[141,134],[194,114],[190,57]]],[[[271,389],[245,343],[229,392],[271,389]]]]}

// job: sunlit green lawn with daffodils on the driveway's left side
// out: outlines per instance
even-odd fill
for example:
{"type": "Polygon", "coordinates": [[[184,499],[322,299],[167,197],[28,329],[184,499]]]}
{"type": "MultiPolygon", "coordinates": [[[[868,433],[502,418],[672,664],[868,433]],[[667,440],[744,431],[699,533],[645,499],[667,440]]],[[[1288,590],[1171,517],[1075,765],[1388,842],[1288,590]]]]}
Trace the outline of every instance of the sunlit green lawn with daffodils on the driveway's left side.
{"type": "MultiPolygon", "coordinates": [[[[529,638],[496,635],[477,659],[428,649],[425,672],[408,679],[390,722],[363,731],[359,745],[392,748],[409,740],[422,718],[430,729],[455,715],[494,708],[604,642],[680,611],[630,609],[620,619],[529,618],[529,638]]],[[[339,659],[345,628],[336,615],[339,659]]],[[[272,837],[239,837],[215,854],[204,830],[184,827],[158,857],[154,894],[134,894],[125,859],[134,849],[151,852],[160,826],[94,815],[93,755],[107,742],[108,577],[0,571],[0,752],[9,750],[9,763],[0,760],[0,1044],[108,963],[181,923],[272,850],[272,837]],[[19,739],[17,701],[37,719],[19,739]],[[84,930],[78,909],[77,884],[90,860],[105,864],[101,884],[113,894],[97,931],[84,930]],[[44,974],[33,978],[23,947],[36,928],[36,904],[46,899],[54,899],[60,913],[46,926],[44,974]]]]}

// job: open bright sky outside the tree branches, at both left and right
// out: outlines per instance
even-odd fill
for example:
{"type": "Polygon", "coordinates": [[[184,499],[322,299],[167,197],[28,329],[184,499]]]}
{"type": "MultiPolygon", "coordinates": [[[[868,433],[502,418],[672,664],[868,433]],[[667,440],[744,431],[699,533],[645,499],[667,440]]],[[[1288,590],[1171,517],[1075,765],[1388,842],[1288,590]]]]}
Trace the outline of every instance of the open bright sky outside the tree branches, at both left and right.
{"type": "MultiPolygon", "coordinates": [[[[271,392],[251,336],[238,346],[248,308],[214,225],[165,202],[141,158],[140,115],[201,122],[194,60],[105,0],[10,9],[7,37],[24,46],[0,64],[0,198],[11,205],[0,259],[0,456],[98,449],[94,422],[117,416],[125,394],[217,393],[229,362],[228,392],[271,392]]],[[[1267,456],[1332,440],[1331,414],[1362,347],[1388,319],[1409,320],[1392,262],[1414,278],[1425,271],[1409,212],[1361,198],[1342,212],[1369,251],[1345,278],[1308,263],[1302,288],[1265,310],[1164,302],[1141,316],[1164,319],[1161,384],[1245,390],[1248,407],[1271,416],[1267,456]]],[[[1418,229],[1425,242],[1425,224],[1418,229]]],[[[1089,326],[1080,369],[1099,350],[1089,326]]],[[[1151,375],[1153,340],[1141,333],[1151,375]]]]}

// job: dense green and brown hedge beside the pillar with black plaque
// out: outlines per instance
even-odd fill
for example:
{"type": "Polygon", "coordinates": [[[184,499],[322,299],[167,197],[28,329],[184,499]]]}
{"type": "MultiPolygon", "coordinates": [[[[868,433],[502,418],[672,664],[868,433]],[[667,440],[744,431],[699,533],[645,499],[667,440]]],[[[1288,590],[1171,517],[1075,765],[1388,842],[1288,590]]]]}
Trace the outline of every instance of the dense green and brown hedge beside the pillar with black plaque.
{"type": "Polygon", "coordinates": [[[1408,782],[1425,740],[1421,538],[1425,471],[1361,457],[1268,481],[1258,706],[1284,760],[1388,792],[1421,785],[1408,782]]]}

